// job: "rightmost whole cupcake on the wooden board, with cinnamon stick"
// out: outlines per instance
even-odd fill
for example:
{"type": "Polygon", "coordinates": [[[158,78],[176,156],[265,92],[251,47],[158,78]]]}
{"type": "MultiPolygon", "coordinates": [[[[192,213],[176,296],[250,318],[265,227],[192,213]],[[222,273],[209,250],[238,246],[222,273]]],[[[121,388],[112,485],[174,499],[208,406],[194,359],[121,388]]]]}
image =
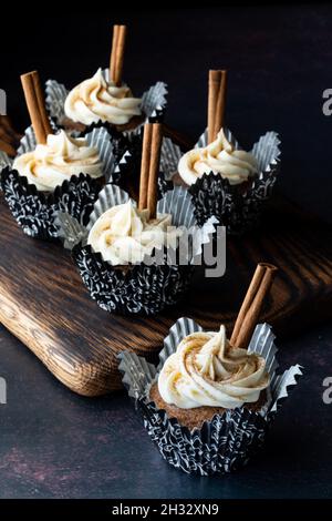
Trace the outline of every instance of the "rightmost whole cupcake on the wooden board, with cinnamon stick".
{"type": "Polygon", "coordinates": [[[226,71],[209,72],[208,129],[195,147],[178,159],[175,183],[193,197],[199,224],[216,216],[229,234],[241,234],[259,221],[270,197],[280,163],[279,137],[268,132],[251,151],[243,151],[225,127],[226,71]]]}

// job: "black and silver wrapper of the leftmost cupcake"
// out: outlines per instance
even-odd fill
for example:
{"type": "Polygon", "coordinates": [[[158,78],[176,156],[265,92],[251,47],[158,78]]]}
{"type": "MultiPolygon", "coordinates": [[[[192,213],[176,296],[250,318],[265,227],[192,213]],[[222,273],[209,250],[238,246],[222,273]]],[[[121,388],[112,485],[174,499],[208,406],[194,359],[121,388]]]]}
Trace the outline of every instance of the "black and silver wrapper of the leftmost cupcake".
{"type": "MultiPolygon", "coordinates": [[[[112,181],[115,160],[108,133],[105,129],[93,130],[86,134],[86,140],[98,149],[105,181],[112,181]]],[[[21,140],[18,155],[34,150],[35,145],[34,132],[30,126],[21,140]]],[[[40,192],[34,184],[28,183],[25,176],[12,168],[12,160],[3,153],[0,156],[0,184],[19,226],[25,234],[42,239],[58,238],[59,231],[54,224],[54,213],[58,211],[68,212],[81,224],[86,224],[101,190],[100,178],[91,178],[82,172],[79,176],[65,180],[54,192],[40,192]]]]}

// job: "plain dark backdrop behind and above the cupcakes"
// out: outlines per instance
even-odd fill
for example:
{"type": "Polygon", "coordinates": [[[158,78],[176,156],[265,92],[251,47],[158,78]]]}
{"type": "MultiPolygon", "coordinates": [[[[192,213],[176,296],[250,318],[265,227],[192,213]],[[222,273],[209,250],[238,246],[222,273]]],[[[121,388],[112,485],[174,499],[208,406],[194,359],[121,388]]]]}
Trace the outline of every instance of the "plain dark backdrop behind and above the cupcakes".
{"type": "Polygon", "coordinates": [[[3,19],[0,88],[18,125],[29,123],[19,75],[38,69],[73,86],[110,61],[112,24],[126,23],[124,79],[139,95],[164,80],[167,122],[197,137],[206,124],[207,71],[229,70],[227,124],[242,146],[268,130],[280,133],[279,186],[302,206],[332,219],[332,116],[322,92],[332,88],[332,6],[224,6],[114,9],[71,14],[53,6],[3,19]],[[56,11],[58,9],[58,11],[56,11]],[[53,13],[55,11],[55,13],[53,13]],[[82,14],[83,13],[83,14],[82,14]],[[7,23],[8,22],[8,23],[7,23]]]}

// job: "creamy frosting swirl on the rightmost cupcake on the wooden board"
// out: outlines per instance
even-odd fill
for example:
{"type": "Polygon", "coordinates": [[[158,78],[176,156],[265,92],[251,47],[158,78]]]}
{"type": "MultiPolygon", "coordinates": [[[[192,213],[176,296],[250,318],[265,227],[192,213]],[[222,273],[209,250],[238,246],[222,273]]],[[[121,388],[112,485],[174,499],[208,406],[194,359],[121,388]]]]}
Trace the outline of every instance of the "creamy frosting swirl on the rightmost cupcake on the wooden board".
{"type": "Polygon", "coordinates": [[[258,173],[258,163],[250,152],[236,150],[221,129],[216,141],[190,150],[178,163],[178,173],[188,185],[210,172],[228,178],[230,184],[240,184],[258,173]]]}

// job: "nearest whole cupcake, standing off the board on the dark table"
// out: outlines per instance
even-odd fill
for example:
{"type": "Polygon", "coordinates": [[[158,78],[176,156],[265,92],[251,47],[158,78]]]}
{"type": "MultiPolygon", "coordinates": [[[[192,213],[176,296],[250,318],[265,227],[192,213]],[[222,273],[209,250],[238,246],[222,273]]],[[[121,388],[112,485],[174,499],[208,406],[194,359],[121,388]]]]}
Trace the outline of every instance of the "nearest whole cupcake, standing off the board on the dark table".
{"type": "Polygon", "coordinates": [[[208,476],[243,466],[264,440],[300,366],[277,375],[274,335],[257,325],[274,268],[258,266],[230,340],[221,325],[204,331],[189,318],[170,328],[154,367],[120,355],[123,382],[163,458],[185,472],[208,476]]]}

